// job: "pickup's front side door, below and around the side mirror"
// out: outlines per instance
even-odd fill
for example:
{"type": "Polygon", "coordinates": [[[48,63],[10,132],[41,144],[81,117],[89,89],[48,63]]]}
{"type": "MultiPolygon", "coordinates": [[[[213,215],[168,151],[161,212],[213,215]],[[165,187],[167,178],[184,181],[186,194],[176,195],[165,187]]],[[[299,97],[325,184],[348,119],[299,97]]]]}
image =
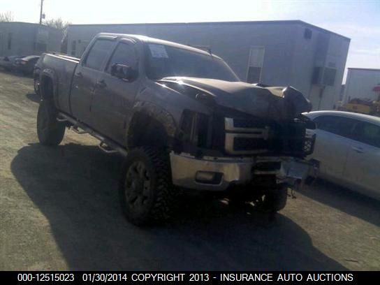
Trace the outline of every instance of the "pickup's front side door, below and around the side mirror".
{"type": "Polygon", "coordinates": [[[133,101],[138,93],[140,76],[138,75],[138,48],[136,42],[122,38],[110,59],[104,72],[96,82],[92,105],[92,121],[94,128],[105,136],[124,145],[126,142],[126,121],[131,115],[133,101]],[[136,73],[136,78],[127,81],[111,75],[114,64],[130,66],[136,73]]]}

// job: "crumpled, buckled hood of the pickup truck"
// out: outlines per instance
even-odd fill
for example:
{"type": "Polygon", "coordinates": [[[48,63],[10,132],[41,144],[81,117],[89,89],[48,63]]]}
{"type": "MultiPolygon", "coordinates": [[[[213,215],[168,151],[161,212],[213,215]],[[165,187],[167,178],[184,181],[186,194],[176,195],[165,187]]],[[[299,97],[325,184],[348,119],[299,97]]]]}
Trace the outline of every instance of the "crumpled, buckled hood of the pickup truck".
{"type": "Polygon", "coordinates": [[[247,82],[189,77],[168,77],[159,82],[177,92],[206,96],[217,105],[256,117],[290,119],[311,110],[309,101],[293,87],[258,87],[247,82]]]}

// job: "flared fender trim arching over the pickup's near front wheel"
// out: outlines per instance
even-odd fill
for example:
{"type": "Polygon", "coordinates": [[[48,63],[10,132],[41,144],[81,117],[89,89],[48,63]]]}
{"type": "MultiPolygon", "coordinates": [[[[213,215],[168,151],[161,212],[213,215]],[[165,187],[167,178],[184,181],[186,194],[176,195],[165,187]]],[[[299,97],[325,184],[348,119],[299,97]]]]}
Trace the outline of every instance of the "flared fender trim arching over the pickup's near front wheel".
{"type": "Polygon", "coordinates": [[[126,127],[126,129],[128,130],[128,145],[133,138],[131,133],[129,133],[131,123],[133,122],[133,117],[135,117],[135,115],[140,112],[145,113],[145,115],[148,115],[149,117],[152,117],[157,122],[159,122],[163,126],[163,129],[165,129],[166,134],[168,135],[168,138],[170,140],[173,140],[173,138],[175,138],[177,124],[175,123],[175,119],[173,118],[173,116],[170,115],[168,111],[161,108],[159,105],[156,105],[148,101],[138,101],[135,103],[135,105],[133,105],[131,119],[129,120],[126,127]]]}

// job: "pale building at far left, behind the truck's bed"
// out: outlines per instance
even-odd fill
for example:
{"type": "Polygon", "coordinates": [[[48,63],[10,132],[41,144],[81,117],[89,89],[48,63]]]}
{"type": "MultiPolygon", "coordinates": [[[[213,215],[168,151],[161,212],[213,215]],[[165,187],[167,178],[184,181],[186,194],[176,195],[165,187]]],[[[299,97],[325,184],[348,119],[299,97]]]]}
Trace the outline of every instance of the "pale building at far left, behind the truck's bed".
{"type": "Polygon", "coordinates": [[[0,22],[0,57],[59,52],[62,31],[41,24],[0,22]]]}

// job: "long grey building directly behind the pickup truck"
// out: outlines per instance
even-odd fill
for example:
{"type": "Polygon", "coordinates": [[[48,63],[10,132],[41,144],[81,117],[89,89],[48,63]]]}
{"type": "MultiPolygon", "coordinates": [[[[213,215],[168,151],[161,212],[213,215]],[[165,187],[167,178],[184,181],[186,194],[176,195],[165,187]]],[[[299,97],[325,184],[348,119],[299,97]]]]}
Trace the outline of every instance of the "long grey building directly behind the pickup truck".
{"type": "Polygon", "coordinates": [[[294,21],[168,24],[72,24],[68,54],[80,57],[99,32],[142,34],[185,45],[208,47],[241,80],[299,89],[314,110],[339,101],[350,39],[294,21]]]}

